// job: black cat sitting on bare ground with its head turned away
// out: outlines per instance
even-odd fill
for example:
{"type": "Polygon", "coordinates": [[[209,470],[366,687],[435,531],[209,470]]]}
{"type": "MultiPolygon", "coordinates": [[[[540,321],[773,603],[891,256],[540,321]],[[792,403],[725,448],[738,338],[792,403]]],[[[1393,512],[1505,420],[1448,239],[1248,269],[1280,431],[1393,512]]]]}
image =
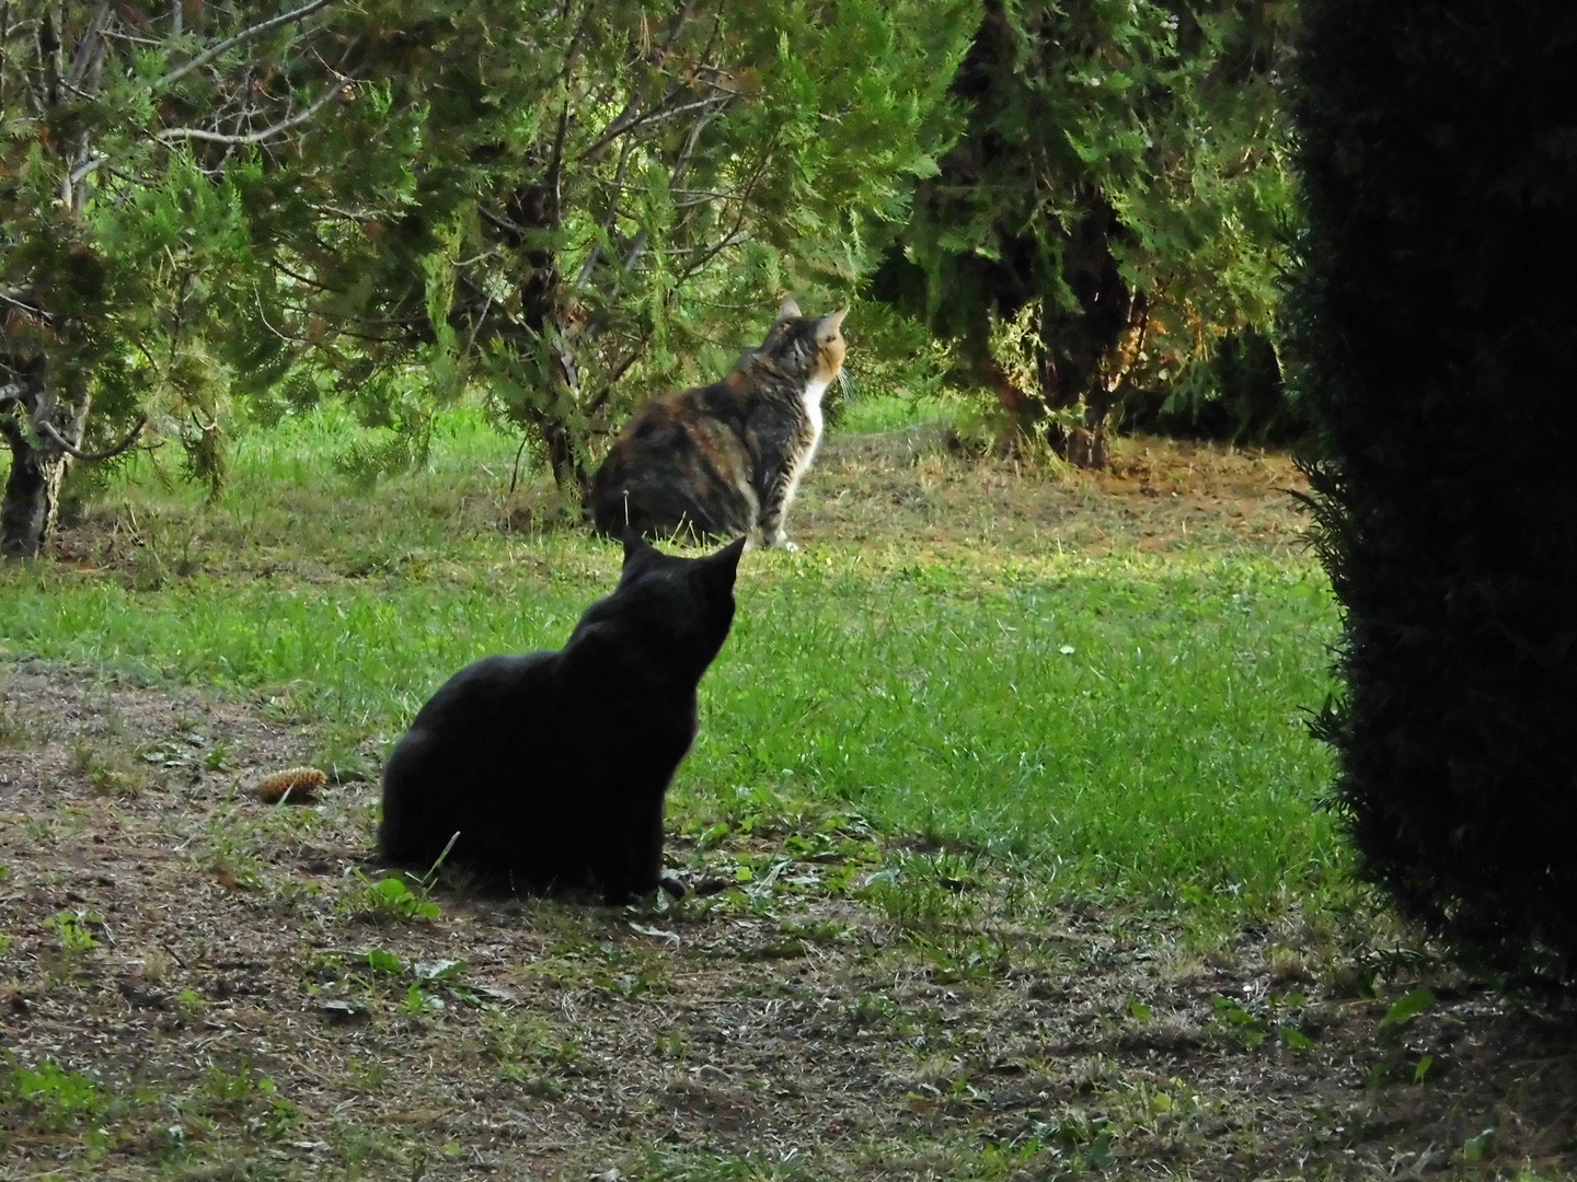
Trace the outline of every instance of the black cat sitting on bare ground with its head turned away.
{"type": "Polygon", "coordinates": [[[695,738],[695,687],[733,623],[744,541],[673,558],[624,537],[624,571],[558,652],[484,657],[421,708],[383,769],[383,854],[609,903],[662,879],[662,797],[695,738]]]}

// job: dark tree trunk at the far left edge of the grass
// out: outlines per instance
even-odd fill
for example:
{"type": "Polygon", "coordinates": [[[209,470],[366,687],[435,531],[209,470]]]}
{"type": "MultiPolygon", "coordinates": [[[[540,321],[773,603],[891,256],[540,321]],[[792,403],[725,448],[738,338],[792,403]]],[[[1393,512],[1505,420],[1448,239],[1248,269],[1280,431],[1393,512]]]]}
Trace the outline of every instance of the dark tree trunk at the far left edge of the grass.
{"type": "Polygon", "coordinates": [[[0,503],[0,555],[38,558],[55,533],[60,485],[71,466],[71,452],[50,438],[49,424],[68,444],[77,446],[88,418],[88,397],[62,402],[46,378],[43,358],[21,366],[0,362],[6,383],[0,435],[11,449],[11,476],[0,503]]]}

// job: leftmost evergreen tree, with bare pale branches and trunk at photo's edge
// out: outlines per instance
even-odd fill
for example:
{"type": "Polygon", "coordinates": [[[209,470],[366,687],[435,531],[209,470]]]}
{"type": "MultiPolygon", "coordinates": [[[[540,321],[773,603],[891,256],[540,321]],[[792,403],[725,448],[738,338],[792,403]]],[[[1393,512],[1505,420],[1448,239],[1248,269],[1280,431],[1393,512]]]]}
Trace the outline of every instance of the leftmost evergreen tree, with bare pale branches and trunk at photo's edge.
{"type": "Polygon", "coordinates": [[[355,55],[317,36],[331,3],[0,5],[8,556],[39,552],[73,459],[150,416],[218,489],[219,407],[255,353],[248,189],[355,106],[355,55]]]}

